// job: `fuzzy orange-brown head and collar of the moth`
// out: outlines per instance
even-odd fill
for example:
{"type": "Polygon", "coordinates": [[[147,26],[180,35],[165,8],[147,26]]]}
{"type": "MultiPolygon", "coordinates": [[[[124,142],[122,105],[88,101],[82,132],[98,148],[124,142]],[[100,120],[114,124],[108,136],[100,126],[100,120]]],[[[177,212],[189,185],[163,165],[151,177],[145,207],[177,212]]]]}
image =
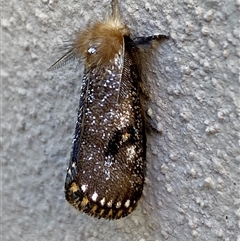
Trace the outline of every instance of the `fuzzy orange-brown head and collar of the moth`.
{"type": "Polygon", "coordinates": [[[78,34],[75,53],[86,60],[88,67],[103,65],[113,61],[116,54],[123,53],[124,37],[129,35],[129,29],[118,18],[96,22],[78,34]]]}

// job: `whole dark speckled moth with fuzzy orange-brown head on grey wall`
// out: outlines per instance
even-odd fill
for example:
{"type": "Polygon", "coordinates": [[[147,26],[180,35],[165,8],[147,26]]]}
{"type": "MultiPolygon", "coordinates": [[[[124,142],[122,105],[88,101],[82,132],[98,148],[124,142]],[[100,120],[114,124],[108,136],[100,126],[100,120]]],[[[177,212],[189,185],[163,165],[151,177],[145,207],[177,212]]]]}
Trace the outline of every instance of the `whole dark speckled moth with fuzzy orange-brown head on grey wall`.
{"type": "Polygon", "coordinates": [[[146,173],[142,53],[167,36],[132,39],[117,1],[111,4],[112,15],[80,32],[50,69],[85,61],[66,200],[91,216],[119,219],[136,208],[146,173]]]}

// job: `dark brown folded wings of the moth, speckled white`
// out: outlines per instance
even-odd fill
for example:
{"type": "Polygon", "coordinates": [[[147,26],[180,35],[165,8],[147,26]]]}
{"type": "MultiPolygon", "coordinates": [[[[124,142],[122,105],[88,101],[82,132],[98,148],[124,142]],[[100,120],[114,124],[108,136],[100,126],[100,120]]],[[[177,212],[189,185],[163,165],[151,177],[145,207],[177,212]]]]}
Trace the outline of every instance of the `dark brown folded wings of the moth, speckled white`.
{"type": "Polygon", "coordinates": [[[84,72],[65,195],[98,218],[128,215],[142,194],[146,137],[134,48],[124,38],[114,59],[84,72]]]}

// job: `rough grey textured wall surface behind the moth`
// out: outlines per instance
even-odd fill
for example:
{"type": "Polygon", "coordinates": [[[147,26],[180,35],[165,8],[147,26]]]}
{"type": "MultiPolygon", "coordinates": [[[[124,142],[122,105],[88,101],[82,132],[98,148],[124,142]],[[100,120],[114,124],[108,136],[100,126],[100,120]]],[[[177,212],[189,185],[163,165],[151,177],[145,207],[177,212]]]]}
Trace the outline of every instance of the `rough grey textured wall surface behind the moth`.
{"type": "Polygon", "coordinates": [[[82,65],[46,72],[109,0],[1,5],[2,240],[240,240],[239,0],[121,2],[134,35],[172,39],[149,73],[144,194],[118,221],[65,201],[82,65]]]}

